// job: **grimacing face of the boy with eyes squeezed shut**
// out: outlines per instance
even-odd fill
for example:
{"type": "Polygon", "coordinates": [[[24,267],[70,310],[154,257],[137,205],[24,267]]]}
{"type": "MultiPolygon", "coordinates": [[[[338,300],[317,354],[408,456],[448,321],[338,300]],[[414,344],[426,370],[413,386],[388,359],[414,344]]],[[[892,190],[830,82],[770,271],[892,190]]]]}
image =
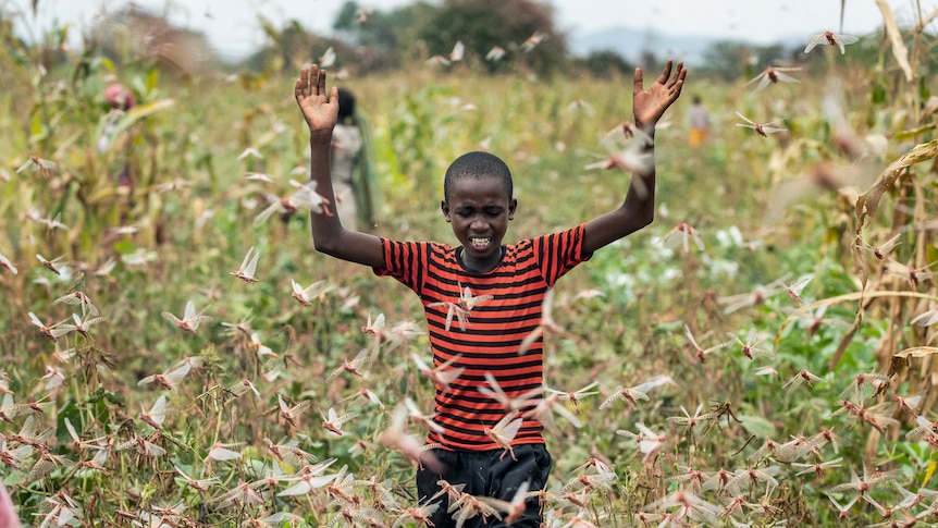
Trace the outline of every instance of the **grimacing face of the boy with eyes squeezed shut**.
{"type": "Polygon", "coordinates": [[[518,200],[508,196],[497,176],[457,177],[441,208],[469,262],[501,257],[499,248],[518,200]]]}

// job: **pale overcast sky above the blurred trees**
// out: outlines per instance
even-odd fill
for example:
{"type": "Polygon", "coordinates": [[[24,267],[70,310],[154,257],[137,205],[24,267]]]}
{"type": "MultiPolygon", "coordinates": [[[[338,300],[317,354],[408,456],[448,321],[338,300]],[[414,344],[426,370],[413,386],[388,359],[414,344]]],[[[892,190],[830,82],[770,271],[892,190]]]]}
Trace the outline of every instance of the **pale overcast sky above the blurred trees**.
{"type": "MultiPolygon", "coordinates": [[[[0,0],[10,12],[21,12],[18,33],[27,39],[52,25],[88,26],[97,13],[116,11],[127,0],[37,0],[38,14],[30,12],[33,0],[0,0]]],[[[436,0],[439,1],[439,0],[436,0]]],[[[883,17],[875,0],[843,0],[846,11],[840,27],[841,0],[542,0],[553,5],[561,30],[577,37],[628,26],[665,35],[706,36],[737,39],[757,45],[772,44],[792,35],[834,30],[863,35],[880,28],[883,17]]],[[[920,0],[924,13],[938,0],[920,0]]],[[[296,19],[307,29],[328,35],[345,0],[136,0],[138,5],[168,12],[175,24],[202,30],[219,54],[229,59],[247,56],[263,44],[257,14],[274,23],[296,19]]],[[[358,0],[358,4],[388,10],[410,0],[358,0]]],[[[914,0],[887,0],[900,24],[911,25],[914,0]]]]}

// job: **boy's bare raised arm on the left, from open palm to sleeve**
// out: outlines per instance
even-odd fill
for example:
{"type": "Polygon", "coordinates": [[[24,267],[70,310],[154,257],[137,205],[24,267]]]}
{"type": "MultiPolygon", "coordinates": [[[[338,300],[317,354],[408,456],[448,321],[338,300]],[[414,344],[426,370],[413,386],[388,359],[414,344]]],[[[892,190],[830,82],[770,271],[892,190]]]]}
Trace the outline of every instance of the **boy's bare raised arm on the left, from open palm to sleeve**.
{"type": "MultiPolygon", "coordinates": [[[[335,204],[330,171],[332,131],[338,119],[338,89],[325,89],[325,71],[313,64],[299,71],[294,87],[296,102],[309,126],[310,179],[316,182],[316,192],[335,204]]],[[[338,214],[310,213],[312,242],[318,251],[366,266],[384,263],[381,238],[342,226],[338,214]]]]}

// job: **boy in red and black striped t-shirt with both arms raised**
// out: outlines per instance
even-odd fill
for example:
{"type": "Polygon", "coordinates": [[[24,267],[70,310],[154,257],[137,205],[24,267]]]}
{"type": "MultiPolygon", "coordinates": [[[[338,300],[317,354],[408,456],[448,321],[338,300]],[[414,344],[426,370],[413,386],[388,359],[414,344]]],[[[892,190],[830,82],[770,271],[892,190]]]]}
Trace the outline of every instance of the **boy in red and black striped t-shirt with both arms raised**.
{"type": "MultiPolygon", "coordinates": [[[[669,60],[644,89],[642,71],[635,69],[633,113],[635,124],[649,134],[642,139],[647,142],[647,154],[654,149],[655,123],[680,96],[686,75],[682,62],[671,75],[669,60]]],[[[335,87],[326,91],[325,72],[314,64],[300,70],[294,89],[310,132],[311,177],[317,192],[332,200],[330,144],[338,93],[335,87]]],[[[542,341],[523,354],[519,348],[540,324],[542,300],[557,279],[596,249],[652,222],[654,163],[637,171],[631,182],[618,209],[516,245],[502,244],[518,205],[511,174],[501,159],[486,152],[464,155],[446,171],[441,209],[453,224],[458,247],[392,242],[347,231],[338,217],[312,214],[316,249],[370,266],[374,273],[394,277],[414,290],[424,306],[434,367],[452,361],[451,368],[465,369],[447,385],[436,385],[435,421],[442,432],[432,431],[429,441],[441,445],[434,455],[444,469],[418,469],[422,502],[441,491],[437,482],[443,480],[465,484],[464,493],[503,501],[511,501],[522,486],[531,491],[545,488],[551,455],[541,422],[524,413],[542,393],[542,341]],[[506,397],[496,398],[499,392],[506,397]],[[496,428],[499,421],[502,434],[496,428]]],[[[455,526],[455,513],[446,512],[446,500],[435,501],[442,504],[432,523],[437,528],[455,526]]],[[[538,499],[529,499],[526,505],[511,526],[539,527],[538,499]]],[[[482,526],[486,520],[494,517],[476,516],[464,526],[482,526]]]]}

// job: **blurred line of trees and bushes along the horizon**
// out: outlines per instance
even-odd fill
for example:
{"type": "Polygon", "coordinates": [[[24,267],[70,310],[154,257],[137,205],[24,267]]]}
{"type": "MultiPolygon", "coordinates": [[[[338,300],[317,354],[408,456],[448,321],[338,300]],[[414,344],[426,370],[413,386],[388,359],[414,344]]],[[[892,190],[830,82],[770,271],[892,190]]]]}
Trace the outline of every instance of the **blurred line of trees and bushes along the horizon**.
{"type": "MultiPolygon", "coordinates": [[[[0,33],[9,56],[11,46],[25,44],[12,36],[9,14],[0,16],[0,33]]],[[[294,71],[305,62],[326,59],[323,53],[330,49],[335,57],[331,69],[347,69],[357,76],[423,63],[442,71],[469,67],[491,74],[536,76],[558,72],[630,75],[635,66],[614,50],[573,56],[568,48],[569,36],[558,28],[553,8],[535,0],[417,0],[388,10],[369,9],[348,0],[333,21],[330,35],[311,32],[296,20],[280,27],[263,13],[257,20],[267,42],[238,60],[213,50],[205,34],[175,26],[165,13],[149,12],[134,3],[98,20],[82,40],[87,53],[115,63],[158,61],[184,76],[205,70],[294,71]]],[[[69,29],[57,28],[45,36],[40,58],[47,67],[66,59],[62,44],[69,29]]],[[[875,61],[879,44],[876,36],[868,40],[868,53],[854,54],[853,60],[875,61]]],[[[646,67],[661,62],[652,49],[641,50],[639,57],[646,67]]],[[[705,63],[695,66],[695,74],[732,79],[757,72],[770,62],[801,63],[809,59],[801,50],[781,45],[720,40],[705,51],[705,63]]]]}

